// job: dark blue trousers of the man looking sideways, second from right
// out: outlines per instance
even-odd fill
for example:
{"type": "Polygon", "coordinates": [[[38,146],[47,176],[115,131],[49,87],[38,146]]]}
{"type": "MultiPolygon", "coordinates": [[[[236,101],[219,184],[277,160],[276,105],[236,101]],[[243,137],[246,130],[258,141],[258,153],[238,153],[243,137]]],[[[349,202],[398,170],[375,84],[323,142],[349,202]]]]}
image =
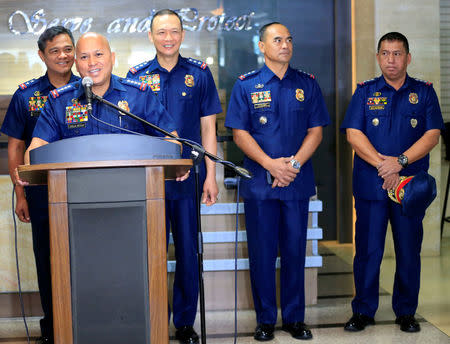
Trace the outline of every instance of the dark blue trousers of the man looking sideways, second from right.
{"type": "Polygon", "coordinates": [[[283,323],[304,320],[308,204],[308,200],[244,202],[253,303],[260,324],[277,321],[275,263],[278,248],[283,323]]]}

